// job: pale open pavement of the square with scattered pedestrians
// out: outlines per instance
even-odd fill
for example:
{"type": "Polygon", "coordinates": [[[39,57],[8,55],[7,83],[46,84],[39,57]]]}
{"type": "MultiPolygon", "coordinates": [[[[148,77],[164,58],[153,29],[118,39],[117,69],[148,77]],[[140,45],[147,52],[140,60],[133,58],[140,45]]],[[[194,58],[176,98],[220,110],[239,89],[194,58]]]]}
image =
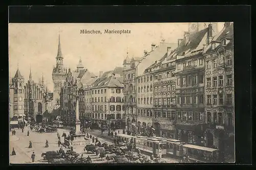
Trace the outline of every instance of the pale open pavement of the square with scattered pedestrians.
{"type": "MultiPolygon", "coordinates": [[[[63,132],[69,134],[68,130],[65,129],[58,129],[58,133],[60,136],[63,132]]],[[[88,131],[89,134],[93,136],[97,136],[98,140],[103,143],[106,142],[108,144],[112,144],[113,138],[107,135],[108,132],[104,132],[101,135],[100,131],[88,131]]],[[[37,133],[34,131],[29,130],[29,128],[24,129],[24,133],[22,133],[21,129],[16,129],[16,135],[12,136],[10,132],[10,145],[9,151],[10,154],[12,152],[12,148],[14,148],[16,155],[10,155],[10,163],[32,163],[31,154],[35,152],[36,158],[34,163],[48,163],[42,160],[41,154],[47,151],[57,151],[59,150],[57,144],[57,133],[37,133]],[[27,132],[30,132],[30,135],[27,136],[27,132]],[[29,141],[32,142],[32,148],[28,148],[29,141]],[[45,148],[45,142],[48,140],[49,148],[45,148]]],[[[63,143],[63,137],[61,137],[61,142],[63,143]]],[[[94,143],[93,143],[94,144],[94,143]]],[[[87,154],[87,152],[83,151],[84,147],[74,147],[74,151],[79,153],[80,155],[83,154],[84,157],[88,155],[92,158],[93,163],[106,163],[106,160],[100,160],[96,158],[95,154],[87,154]]],[[[149,157],[148,155],[145,155],[149,157]]],[[[177,163],[177,160],[171,158],[163,158],[167,163],[177,163]]]]}

